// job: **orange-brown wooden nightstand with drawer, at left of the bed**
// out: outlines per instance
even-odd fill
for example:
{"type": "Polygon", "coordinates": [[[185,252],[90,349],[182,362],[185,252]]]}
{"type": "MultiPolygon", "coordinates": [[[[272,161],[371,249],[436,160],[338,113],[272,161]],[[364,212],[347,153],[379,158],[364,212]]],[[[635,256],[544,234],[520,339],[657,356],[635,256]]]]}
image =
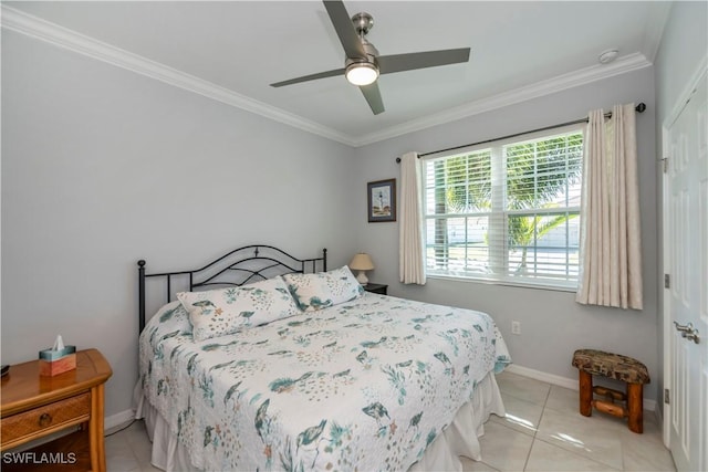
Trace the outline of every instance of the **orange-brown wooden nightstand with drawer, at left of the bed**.
{"type": "Polygon", "coordinates": [[[38,360],[10,366],[0,388],[2,470],[104,472],[103,390],[112,374],[96,349],[77,352],[76,369],[54,377],[40,376],[38,360]],[[6,453],[8,449],[79,426],[70,434],[15,454],[17,460],[10,455],[13,452],[6,453]]]}

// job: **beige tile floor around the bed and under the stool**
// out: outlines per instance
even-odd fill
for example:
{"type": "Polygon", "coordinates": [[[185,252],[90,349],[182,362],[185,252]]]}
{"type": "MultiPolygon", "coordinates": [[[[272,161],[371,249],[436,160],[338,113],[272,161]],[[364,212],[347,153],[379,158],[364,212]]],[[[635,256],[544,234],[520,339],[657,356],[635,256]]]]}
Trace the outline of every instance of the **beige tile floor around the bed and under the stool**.
{"type": "MultiPolygon", "coordinates": [[[[644,434],[635,434],[614,417],[582,417],[575,390],[510,373],[497,378],[507,418],[485,424],[482,461],[464,459],[465,471],[676,470],[653,412],[645,412],[644,434]]],[[[106,438],[106,462],[108,472],[158,470],[142,421],[106,438]]]]}

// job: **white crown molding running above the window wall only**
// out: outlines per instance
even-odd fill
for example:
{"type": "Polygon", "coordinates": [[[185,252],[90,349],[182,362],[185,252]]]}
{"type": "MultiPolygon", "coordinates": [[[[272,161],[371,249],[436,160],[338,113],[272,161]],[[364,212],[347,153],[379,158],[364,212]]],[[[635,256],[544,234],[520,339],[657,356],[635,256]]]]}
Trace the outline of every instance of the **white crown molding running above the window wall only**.
{"type": "Polygon", "coordinates": [[[466,103],[465,105],[447,109],[445,112],[426,116],[425,118],[414,119],[398,126],[394,126],[382,132],[372,133],[357,139],[357,146],[364,146],[377,143],[384,139],[402,136],[408,133],[418,132],[437,125],[455,122],[480,113],[490,112],[504,106],[525,102],[540,96],[550,95],[568,88],[577,87],[590,84],[592,82],[608,78],[615,75],[626,74],[632,71],[648,67],[652,63],[646,60],[644,54],[628,54],[610,64],[597,64],[590,67],[581,69],[568,74],[559,75],[553,78],[537,82],[498,95],[482,98],[479,101],[466,103]]]}

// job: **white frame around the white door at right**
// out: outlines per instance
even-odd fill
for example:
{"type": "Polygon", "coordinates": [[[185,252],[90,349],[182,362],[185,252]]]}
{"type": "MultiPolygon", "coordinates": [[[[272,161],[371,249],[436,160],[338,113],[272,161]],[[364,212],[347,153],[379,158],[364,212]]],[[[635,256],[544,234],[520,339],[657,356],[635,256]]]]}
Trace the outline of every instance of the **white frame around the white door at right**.
{"type": "MultiPolygon", "coordinates": [[[[678,118],[684,107],[686,106],[688,99],[690,98],[693,91],[698,86],[699,81],[702,78],[702,75],[708,70],[708,56],[705,56],[690,80],[684,87],[684,91],[678,96],[675,102],[671,112],[667,115],[667,117],[662,123],[662,157],[666,158],[670,155],[670,143],[669,143],[669,133],[668,129],[671,127],[674,122],[678,118]]],[[[670,244],[670,232],[668,231],[668,223],[666,216],[668,214],[668,193],[666,189],[668,188],[668,175],[663,170],[663,159],[660,160],[662,166],[659,166],[659,171],[662,172],[662,252],[663,252],[663,268],[660,275],[660,284],[664,286],[664,274],[667,273],[667,268],[671,266],[671,251],[669,248],[670,244]]],[[[663,390],[659,395],[658,401],[664,405],[662,410],[663,417],[663,440],[664,445],[670,449],[670,437],[671,437],[671,405],[664,402],[664,391],[667,389],[670,390],[671,387],[671,375],[673,375],[673,364],[671,364],[671,336],[674,335],[674,326],[671,326],[671,311],[670,311],[670,296],[668,294],[669,289],[664,289],[663,291],[663,307],[662,307],[662,319],[663,319],[663,343],[664,343],[664,385],[663,390]]],[[[708,339],[706,339],[708,342],[708,339]]],[[[673,394],[673,392],[671,392],[673,394]]]]}

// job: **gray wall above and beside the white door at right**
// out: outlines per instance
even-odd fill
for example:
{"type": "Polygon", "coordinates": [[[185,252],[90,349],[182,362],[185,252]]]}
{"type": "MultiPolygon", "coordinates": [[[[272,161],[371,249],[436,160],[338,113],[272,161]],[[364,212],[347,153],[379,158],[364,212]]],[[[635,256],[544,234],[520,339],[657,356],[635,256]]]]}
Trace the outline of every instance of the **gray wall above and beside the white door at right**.
{"type": "MultiPolygon", "coordinates": [[[[699,64],[706,64],[708,56],[708,3],[707,2],[674,2],[669,18],[664,29],[662,44],[654,63],[656,80],[656,153],[660,159],[663,144],[663,125],[674,112],[680,94],[694,78],[699,64]]],[[[662,204],[663,177],[657,175],[656,207],[659,234],[659,250],[663,247],[663,204],[662,204]]],[[[659,260],[659,274],[664,273],[663,259],[659,260]]],[[[659,307],[664,305],[663,285],[657,286],[659,293],[659,307]]],[[[664,363],[664,329],[658,326],[658,357],[664,363]]],[[[663,386],[664,376],[657,378],[657,386],[663,386]]]]}

